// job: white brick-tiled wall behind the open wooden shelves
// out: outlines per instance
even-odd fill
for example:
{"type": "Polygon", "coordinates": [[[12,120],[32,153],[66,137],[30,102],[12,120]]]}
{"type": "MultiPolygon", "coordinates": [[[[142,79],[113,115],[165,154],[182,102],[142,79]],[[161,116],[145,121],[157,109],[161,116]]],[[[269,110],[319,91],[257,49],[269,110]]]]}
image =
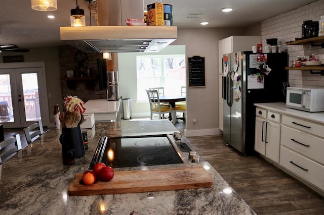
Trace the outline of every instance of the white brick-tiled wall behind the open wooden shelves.
{"type": "MultiPolygon", "coordinates": [[[[324,49],[311,45],[286,45],[287,41],[295,41],[301,37],[303,21],[319,21],[324,15],[324,1],[319,0],[284,14],[264,20],[261,23],[261,39],[266,44],[268,38],[278,38],[278,44],[282,45],[289,54],[289,60],[297,59],[297,56],[309,56],[312,53],[318,59],[324,59],[324,49]]],[[[291,86],[324,86],[324,77],[309,71],[290,70],[289,81],[291,86]]]]}

